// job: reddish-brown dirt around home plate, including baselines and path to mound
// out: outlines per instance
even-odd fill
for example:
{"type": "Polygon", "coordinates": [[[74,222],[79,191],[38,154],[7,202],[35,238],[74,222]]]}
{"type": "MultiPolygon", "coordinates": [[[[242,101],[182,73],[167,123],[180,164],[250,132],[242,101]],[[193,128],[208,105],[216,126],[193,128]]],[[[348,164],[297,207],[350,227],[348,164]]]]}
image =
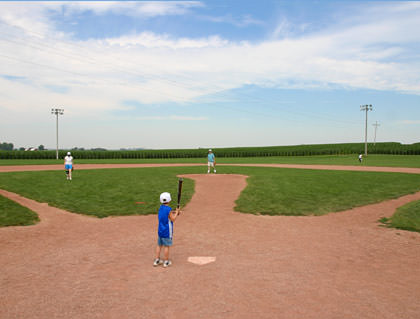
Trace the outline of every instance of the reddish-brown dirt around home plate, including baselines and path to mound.
{"type": "Polygon", "coordinates": [[[420,234],[377,222],[420,192],[320,217],[254,216],[233,211],[246,176],[184,177],[196,192],[167,269],[152,267],[156,216],[96,219],[0,191],[41,219],[0,229],[0,318],[420,317],[420,234]]]}

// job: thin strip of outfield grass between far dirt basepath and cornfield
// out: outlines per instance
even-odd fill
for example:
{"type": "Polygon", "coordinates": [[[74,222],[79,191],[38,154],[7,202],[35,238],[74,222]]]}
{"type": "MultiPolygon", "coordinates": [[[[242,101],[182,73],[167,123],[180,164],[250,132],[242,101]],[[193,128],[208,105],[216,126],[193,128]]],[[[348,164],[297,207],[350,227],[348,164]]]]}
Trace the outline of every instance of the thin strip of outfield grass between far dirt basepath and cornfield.
{"type": "MultiPolygon", "coordinates": [[[[215,152],[217,157],[217,151],[215,152]]],[[[369,155],[359,164],[358,155],[319,156],[268,156],[268,157],[217,157],[219,164],[318,164],[318,165],[363,165],[388,167],[418,167],[419,155],[369,155]]],[[[150,164],[150,163],[207,163],[206,158],[176,159],[75,159],[77,164],[150,164]]],[[[0,160],[0,165],[63,164],[63,160],[0,160]]]]}

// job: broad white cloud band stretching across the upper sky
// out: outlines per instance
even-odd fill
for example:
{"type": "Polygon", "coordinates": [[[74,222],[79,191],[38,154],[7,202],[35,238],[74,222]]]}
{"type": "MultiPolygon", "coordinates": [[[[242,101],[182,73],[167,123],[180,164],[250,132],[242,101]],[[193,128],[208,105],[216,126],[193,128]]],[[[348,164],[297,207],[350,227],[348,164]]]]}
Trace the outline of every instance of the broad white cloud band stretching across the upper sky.
{"type": "MultiPolygon", "coordinates": [[[[404,56],[410,44],[420,43],[420,34],[413,31],[420,29],[418,4],[394,5],[398,14],[390,10],[391,5],[381,11],[381,4],[367,10],[369,19],[361,15],[357,23],[343,22],[305,37],[256,44],[228,41],[218,35],[174,38],[150,31],[76,41],[56,32],[46,11],[69,6],[71,10],[90,8],[97,14],[113,11],[157,15],[182,14],[201,5],[1,3],[1,72],[26,79],[17,84],[0,78],[3,107],[34,111],[33,105],[54,101],[95,113],[124,109],[124,100],[151,104],[185,103],[212,94],[220,98],[226,90],[250,84],[281,88],[339,85],[420,94],[419,60],[395,58],[404,56]],[[372,13],[375,10],[376,15],[372,13]],[[33,30],[43,38],[34,36],[33,30]],[[51,92],[54,86],[63,89],[51,92]]],[[[275,32],[287,29],[287,25],[280,26],[275,32]]]]}

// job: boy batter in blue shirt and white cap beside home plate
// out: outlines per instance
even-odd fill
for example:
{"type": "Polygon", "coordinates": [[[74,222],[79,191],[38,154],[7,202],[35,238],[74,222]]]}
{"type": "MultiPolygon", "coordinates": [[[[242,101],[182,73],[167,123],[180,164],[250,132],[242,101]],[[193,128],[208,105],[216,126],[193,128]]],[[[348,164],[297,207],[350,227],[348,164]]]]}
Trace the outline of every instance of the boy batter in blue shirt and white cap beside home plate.
{"type": "Polygon", "coordinates": [[[169,206],[171,202],[171,194],[162,193],[160,194],[160,202],[162,205],[159,207],[158,219],[158,244],[156,247],[156,259],[153,262],[153,266],[159,266],[163,263],[163,267],[168,267],[172,264],[169,260],[169,248],[172,246],[172,236],[174,232],[174,221],[178,217],[179,209],[172,210],[169,206]],[[165,260],[160,259],[160,252],[163,247],[163,255],[165,260]]]}

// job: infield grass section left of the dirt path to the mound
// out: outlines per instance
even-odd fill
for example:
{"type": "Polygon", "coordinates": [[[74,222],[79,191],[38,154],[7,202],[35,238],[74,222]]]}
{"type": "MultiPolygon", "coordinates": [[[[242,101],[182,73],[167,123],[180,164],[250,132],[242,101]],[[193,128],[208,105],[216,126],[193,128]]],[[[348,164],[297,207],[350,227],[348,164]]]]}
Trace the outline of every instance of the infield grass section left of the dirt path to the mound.
{"type": "MultiPolygon", "coordinates": [[[[0,188],[100,218],[156,213],[160,193],[167,191],[175,198],[177,181],[176,173],[167,168],[75,171],[72,181],[62,171],[0,174],[0,188]]],[[[182,202],[188,202],[193,191],[193,181],[186,180],[182,202]]]]}

